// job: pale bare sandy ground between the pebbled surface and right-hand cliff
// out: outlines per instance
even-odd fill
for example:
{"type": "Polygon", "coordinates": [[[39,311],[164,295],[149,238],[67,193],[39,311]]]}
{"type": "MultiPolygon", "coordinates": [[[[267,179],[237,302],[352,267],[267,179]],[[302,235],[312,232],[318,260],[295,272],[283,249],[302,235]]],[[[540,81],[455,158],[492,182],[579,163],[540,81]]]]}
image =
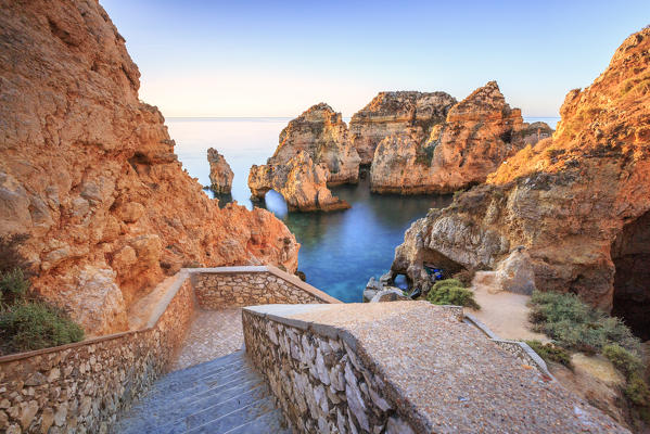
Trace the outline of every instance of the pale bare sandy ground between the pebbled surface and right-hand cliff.
{"type": "Polygon", "coordinates": [[[538,340],[548,342],[548,337],[531,331],[528,322],[528,295],[501,291],[490,294],[485,285],[474,285],[474,298],[481,310],[468,309],[497,336],[506,340],[538,340]]]}

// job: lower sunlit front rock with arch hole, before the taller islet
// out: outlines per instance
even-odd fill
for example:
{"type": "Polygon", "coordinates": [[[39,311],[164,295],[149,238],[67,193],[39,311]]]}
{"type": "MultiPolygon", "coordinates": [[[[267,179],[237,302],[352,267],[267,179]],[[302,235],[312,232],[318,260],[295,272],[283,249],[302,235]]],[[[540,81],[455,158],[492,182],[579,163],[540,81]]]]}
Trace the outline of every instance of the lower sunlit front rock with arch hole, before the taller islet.
{"type": "Polygon", "coordinates": [[[276,190],[289,210],[335,210],[349,204],[332,195],[327,182],[330,171],[324,163],[315,164],[307,151],[299,151],[288,163],[251,167],[248,188],[254,197],[276,190]]]}

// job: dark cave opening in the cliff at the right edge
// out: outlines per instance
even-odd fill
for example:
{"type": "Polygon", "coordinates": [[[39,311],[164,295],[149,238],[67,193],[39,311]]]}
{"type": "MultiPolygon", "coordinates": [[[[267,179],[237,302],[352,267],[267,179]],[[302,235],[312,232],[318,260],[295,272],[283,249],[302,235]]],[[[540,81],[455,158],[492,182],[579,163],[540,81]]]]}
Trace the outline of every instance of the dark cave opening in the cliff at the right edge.
{"type": "Polygon", "coordinates": [[[628,222],[611,247],[614,263],[612,315],[642,341],[650,340],[650,212],[628,222]]]}

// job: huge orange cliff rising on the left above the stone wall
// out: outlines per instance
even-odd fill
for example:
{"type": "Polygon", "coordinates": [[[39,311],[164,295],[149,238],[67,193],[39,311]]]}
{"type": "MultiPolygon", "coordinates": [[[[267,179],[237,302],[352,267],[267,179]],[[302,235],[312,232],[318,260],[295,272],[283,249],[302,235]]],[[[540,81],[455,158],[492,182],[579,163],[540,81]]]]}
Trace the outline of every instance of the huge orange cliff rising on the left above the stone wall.
{"type": "Polygon", "coordinates": [[[280,220],[183,171],[139,76],[97,1],[0,1],[0,234],[30,235],[34,288],[89,334],[183,265],[297,266],[280,220]]]}

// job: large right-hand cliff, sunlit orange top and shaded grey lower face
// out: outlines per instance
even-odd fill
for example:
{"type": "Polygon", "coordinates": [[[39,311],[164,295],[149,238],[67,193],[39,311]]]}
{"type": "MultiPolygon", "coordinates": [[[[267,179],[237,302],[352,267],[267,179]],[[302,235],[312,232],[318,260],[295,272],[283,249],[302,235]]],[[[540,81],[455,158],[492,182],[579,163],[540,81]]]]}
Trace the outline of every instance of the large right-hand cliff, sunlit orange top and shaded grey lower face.
{"type": "MultiPolygon", "coordinates": [[[[394,272],[423,284],[426,256],[494,268],[522,245],[537,289],[577,293],[611,309],[619,272],[612,257],[626,256],[613,254],[612,243],[650,209],[648,71],[645,28],[590,87],[569,92],[552,139],[519,151],[486,184],[416,221],[396,250],[394,272]]],[[[633,292],[645,297],[647,286],[633,292]]]]}

